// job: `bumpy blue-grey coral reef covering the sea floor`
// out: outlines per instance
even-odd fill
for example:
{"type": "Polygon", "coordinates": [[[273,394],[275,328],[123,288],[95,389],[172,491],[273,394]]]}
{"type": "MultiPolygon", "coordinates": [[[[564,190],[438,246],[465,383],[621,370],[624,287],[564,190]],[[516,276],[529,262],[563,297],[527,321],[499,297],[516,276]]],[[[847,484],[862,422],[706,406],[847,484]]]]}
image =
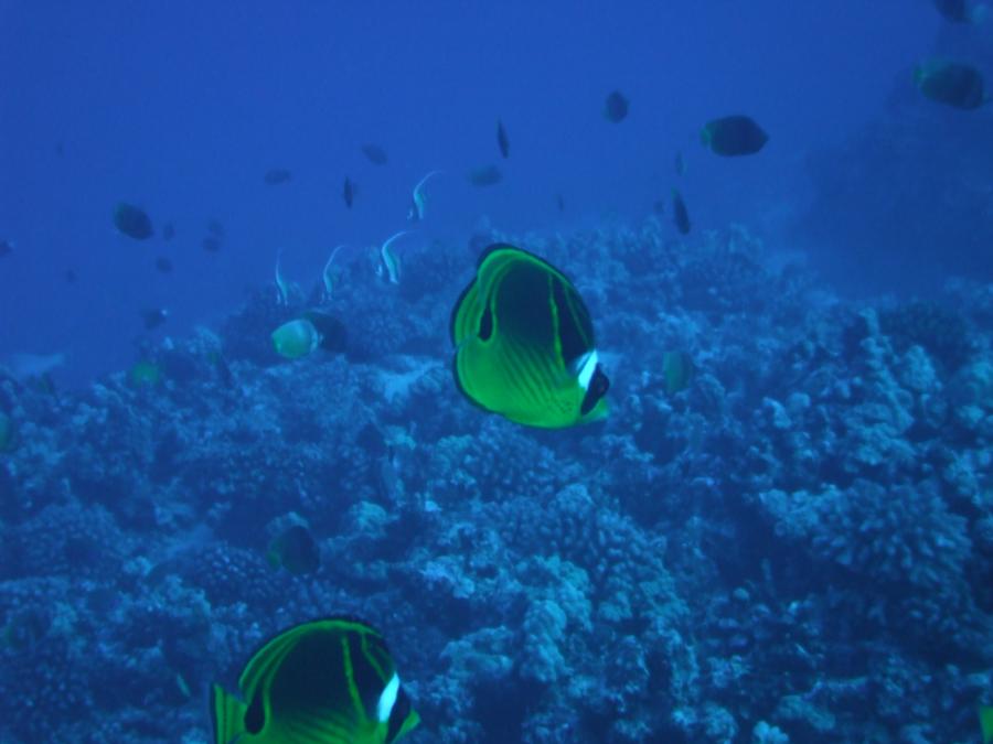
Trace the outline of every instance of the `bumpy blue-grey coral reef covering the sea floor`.
{"type": "Polygon", "coordinates": [[[730,227],[477,235],[362,265],[344,353],[252,292],[147,349],[161,379],[0,380],[0,741],[211,738],[265,638],[362,617],[409,741],[968,742],[993,694],[993,287],[842,301],[730,227]],[[504,239],[576,282],[604,422],[453,385],[448,315],[504,239]],[[663,354],[696,374],[666,387],[663,354]],[[320,568],[274,569],[308,527],[320,568]]]}

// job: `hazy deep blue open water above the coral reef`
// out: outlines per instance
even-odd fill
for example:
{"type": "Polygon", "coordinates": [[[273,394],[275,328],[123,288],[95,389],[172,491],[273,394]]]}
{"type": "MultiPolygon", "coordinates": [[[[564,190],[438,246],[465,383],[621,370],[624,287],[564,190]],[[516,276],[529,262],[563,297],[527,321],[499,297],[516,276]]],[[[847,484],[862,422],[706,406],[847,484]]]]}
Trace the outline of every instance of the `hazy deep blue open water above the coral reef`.
{"type": "Polygon", "coordinates": [[[0,0],[0,238],[17,244],[0,259],[0,359],[66,352],[65,381],[121,368],[141,308],[171,310],[163,332],[210,323],[269,280],[280,247],[289,277],[316,281],[334,245],[405,227],[430,169],[445,175],[417,239],[465,241],[481,215],[506,230],[641,218],[682,150],[694,236],[734,219],[788,250],[808,153],[879,116],[895,80],[912,89],[942,24],[928,0],[0,0]],[[601,115],[615,88],[631,101],[620,125],[601,115]],[[738,111],[771,136],[760,157],[703,150],[701,126],[738,111]],[[472,188],[466,171],[499,161],[498,117],[505,180],[472,188]],[[274,166],[292,182],[264,185],[274,166]],[[172,220],[174,240],[116,234],[120,200],[172,220]],[[200,247],[212,218],[217,255],[200,247]]]}

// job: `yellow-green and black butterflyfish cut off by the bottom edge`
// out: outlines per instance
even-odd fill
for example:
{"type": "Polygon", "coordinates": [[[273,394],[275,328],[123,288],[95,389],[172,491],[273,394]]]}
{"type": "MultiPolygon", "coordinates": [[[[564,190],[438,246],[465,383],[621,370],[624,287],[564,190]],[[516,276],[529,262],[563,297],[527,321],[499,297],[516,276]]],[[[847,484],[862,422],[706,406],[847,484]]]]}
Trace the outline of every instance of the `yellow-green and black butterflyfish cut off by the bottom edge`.
{"type": "Polygon", "coordinates": [[[248,660],[238,691],[211,687],[215,744],[392,744],[420,722],[383,636],[345,617],[269,640],[248,660]]]}

